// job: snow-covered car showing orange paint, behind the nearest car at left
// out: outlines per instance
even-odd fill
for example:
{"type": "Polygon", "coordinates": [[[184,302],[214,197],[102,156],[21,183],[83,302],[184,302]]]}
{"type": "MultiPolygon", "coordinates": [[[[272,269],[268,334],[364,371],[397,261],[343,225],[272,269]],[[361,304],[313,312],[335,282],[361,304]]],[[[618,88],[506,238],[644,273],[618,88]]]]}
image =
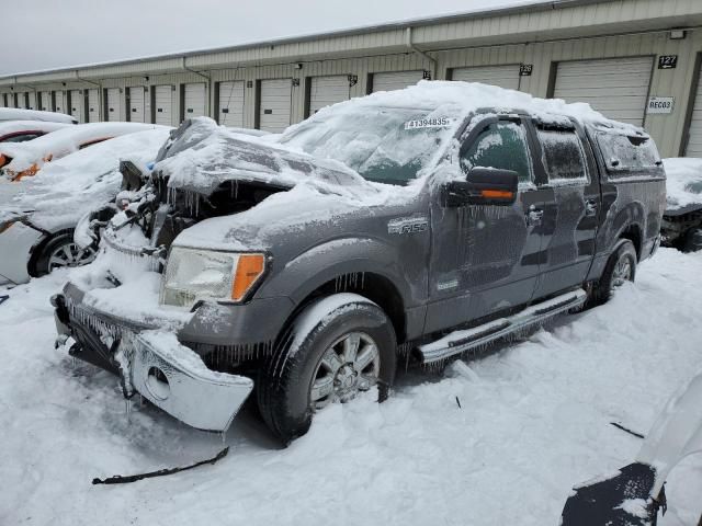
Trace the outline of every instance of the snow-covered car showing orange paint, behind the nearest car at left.
{"type": "Polygon", "coordinates": [[[0,171],[9,181],[35,175],[42,167],[103,140],[158,127],[140,123],[90,123],[68,126],[21,144],[0,145],[0,171]]]}

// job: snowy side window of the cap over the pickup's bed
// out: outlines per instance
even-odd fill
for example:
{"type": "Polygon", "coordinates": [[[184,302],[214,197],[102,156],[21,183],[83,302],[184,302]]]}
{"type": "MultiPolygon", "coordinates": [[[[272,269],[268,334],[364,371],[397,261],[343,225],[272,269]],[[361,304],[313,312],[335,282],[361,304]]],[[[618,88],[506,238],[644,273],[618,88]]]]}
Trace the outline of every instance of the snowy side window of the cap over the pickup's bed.
{"type": "Polygon", "coordinates": [[[629,173],[658,170],[661,165],[656,145],[649,137],[626,136],[600,132],[597,142],[610,175],[625,178],[629,173]]]}

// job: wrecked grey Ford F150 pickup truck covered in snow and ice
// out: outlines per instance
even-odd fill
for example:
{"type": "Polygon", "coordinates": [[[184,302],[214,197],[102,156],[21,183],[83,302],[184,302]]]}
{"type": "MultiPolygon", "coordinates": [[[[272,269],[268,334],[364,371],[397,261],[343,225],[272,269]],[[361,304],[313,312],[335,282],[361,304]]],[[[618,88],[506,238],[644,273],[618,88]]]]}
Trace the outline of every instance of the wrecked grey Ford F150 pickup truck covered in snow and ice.
{"type": "Polygon", "coordinates": [[[384,398],[399,359],[607,300],[656,250],[665,173],[587,105],[420,82],[281,136],[186,122],[117,201],[53,298],[58,343],[202,430],[256,385],[288,443],[330,402],[384,398]]]}

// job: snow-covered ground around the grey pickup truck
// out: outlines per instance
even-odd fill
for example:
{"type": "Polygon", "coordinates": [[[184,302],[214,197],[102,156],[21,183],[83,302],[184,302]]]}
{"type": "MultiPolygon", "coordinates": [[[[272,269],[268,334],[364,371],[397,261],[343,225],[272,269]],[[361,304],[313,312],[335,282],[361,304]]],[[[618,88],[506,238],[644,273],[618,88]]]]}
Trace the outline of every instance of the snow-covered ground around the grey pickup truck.
{"type": "MultiPolygon", "coordinates": [[[[0,295],[1,525],[547,525],[570,488],[633,460],[668,397],[702,367],[702,253],[661,250],[607,306],[442,373],[400,375],[390,400],[319,413],[279,449],[250,409],[229,455],[170,477],[94,477],[213,456],[219,436],[134,408],[117,381],[53,348],[66,274],[0,295]],[[456,403],[461,402],[461,408],[456,403]]],[[[694,525],[702,461],[675,470],[664,525],[694,525]]]]}

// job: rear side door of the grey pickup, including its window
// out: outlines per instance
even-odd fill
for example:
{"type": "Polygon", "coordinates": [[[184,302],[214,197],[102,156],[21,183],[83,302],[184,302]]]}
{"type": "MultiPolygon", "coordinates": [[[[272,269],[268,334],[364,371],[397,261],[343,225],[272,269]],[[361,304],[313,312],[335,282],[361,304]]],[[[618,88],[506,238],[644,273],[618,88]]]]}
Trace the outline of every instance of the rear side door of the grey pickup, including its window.
{"type": "Polygon", "coordinates": [[[550,296],[582,284],[592,258],[600,184],[584,133],[575,125],[534,123],[536,159],[545,181],[543,251],[535,298],[550,296]]]}

